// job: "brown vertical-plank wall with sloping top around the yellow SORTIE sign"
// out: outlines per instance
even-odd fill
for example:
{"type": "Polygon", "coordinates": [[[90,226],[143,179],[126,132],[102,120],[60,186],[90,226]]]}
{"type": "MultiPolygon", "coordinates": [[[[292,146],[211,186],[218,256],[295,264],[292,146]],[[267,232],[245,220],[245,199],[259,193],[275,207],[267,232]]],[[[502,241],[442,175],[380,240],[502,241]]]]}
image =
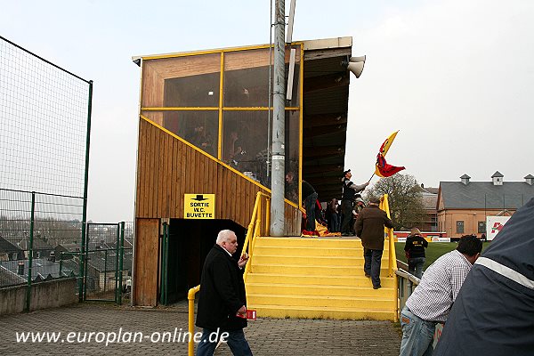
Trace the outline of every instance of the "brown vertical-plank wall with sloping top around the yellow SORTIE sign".
{"type": "MultiPolygon", "coordinates": [[[[144,119],[139,140],[136,218],[183,218],[184,194],[215,194],[215,219],[248,226],[261,186],[144,119]]],[[[286,203],[287,235],[300,234],[296,212],[286,203]]]]}

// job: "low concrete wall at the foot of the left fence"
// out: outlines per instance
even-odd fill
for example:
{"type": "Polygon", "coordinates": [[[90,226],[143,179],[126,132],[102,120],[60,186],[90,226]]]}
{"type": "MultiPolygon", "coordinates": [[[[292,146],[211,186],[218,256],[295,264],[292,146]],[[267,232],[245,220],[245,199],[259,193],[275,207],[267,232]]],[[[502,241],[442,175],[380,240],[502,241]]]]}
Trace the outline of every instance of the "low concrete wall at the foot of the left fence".
{"type": "MultiPolygon", "coordinates": [[[[25,285],[0,289],[0,315],[24,312],[26,289],[25,285]]],[[[77,303],[76,291],[76,278],[32,284],[29,310],[36,311],[77,303]]]]}

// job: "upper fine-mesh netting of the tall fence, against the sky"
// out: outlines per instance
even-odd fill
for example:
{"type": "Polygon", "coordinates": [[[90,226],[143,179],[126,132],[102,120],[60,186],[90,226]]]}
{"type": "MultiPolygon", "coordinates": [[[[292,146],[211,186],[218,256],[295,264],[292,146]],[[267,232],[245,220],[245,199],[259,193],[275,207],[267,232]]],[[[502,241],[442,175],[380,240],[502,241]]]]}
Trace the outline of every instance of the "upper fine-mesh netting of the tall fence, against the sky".
{"type": "Polygon", "coordinates": [[[90,85],[0,36],[0,188],[84,195],[90,85]]]}

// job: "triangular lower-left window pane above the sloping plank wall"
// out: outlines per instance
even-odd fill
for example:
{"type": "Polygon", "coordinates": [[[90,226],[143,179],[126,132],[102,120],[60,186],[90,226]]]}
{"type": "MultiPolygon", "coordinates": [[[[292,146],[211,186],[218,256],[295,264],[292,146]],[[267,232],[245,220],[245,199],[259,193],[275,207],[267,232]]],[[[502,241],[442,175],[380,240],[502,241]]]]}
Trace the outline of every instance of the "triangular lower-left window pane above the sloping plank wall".
{"type": "Polygon", "coordinates": [[[219,111],[143,111],[142,115],[217,157],[219,111]]]}

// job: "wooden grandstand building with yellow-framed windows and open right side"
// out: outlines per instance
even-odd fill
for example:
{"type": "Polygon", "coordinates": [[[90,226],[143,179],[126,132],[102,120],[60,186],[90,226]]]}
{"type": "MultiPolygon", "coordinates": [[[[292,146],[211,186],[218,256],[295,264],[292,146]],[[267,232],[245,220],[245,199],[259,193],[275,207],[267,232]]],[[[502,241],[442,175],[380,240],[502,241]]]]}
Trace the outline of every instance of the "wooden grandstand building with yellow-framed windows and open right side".
{"type": "MultiPolygon", "coordinates": [[[[310,182],[321,200],[341,198],[350,81],[342,62],[352,37],[286,48],[287,72],[295,73],[286,172],[310,182]]],[[[271,58],[269,44],[134,57],[141,68],[134,305],[187,295],[218,231],[236,231],[242,245],[256,193],[270,194],[271,58]],[[190,199],[211,210],[188,216],[190,199]]],[[[300,235],[303,197],[295,188],[286,191],[287,236],[300,235]]]]}

